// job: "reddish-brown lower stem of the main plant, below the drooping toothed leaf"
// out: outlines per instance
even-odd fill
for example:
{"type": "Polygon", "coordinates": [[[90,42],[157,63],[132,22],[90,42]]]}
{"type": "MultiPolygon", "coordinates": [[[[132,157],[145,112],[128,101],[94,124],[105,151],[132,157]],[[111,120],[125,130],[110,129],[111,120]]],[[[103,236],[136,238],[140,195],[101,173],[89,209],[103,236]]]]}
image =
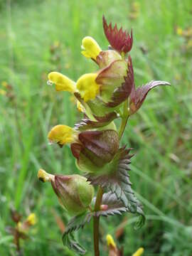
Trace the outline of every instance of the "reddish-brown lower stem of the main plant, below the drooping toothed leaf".
{"type": "MultiPolygon", "coordinates": [[[[100,205],[102,203],[102,188],[99,186],[97,191],[97,198],[95,201],[94,211],[100,210],[100,205]]],[[[94,252],[95,256],[100,256],[100,247],[99,247],[99,225],[100,225],[100,217],[94,216],[93,218],[93,238],[94,238],[94,252]]]]}

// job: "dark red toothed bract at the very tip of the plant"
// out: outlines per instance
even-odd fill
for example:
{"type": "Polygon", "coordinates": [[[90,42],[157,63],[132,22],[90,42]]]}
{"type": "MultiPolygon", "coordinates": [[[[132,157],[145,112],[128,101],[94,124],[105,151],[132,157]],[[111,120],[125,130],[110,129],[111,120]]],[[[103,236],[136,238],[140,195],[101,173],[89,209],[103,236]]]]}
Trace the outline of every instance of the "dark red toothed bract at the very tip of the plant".
{"type": "Polygon", "coordinates": [[[117,24],[112,28],[112,23],[107,25],[105,16],[102,16],[102,24],[105,36],[114,50],[117,50],[119,53],[128,53],[132,49],[132,30],[131,35],[129,35],[129,33],[127,31],[123,31],[122,28],[118,30],[117,24]]]}

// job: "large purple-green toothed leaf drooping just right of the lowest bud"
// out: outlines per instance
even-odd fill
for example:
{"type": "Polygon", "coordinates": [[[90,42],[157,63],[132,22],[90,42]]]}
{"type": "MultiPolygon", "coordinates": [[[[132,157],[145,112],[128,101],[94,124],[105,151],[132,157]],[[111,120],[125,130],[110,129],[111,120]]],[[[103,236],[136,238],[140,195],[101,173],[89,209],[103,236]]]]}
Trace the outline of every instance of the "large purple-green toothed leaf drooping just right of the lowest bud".
{"type": "MultiPolygon", "coordinates": [[[[117,196],[117,199],[122,201],[124,207],[130,213],[137,213],[142,215],[142,221],[144,223],[144,213],[142,205],[134,196],[132,191],[132,183],[129,180],[129,164],[132,154],[129,154],[131,149],[119,149],[116,156],[110,164],[107,165],[108,173],[106,174],[87,174],[87,179],[92,185],[100,185],[102,188],[109,189],[117,196]]],[[[137,224],[138,227],[142,225],[142,221],[137,224]]]]}

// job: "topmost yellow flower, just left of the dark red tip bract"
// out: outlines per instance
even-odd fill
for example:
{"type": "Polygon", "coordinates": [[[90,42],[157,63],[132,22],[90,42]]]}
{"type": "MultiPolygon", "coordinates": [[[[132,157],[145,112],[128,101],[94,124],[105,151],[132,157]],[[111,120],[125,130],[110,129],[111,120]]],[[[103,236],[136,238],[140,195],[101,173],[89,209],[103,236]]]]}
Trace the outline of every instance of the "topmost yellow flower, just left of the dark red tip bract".
{"type": "Polygon", "coordinates": [[[86,58],[96,60],[97,55],[100,54],[101,48],[98,43],[91,36],[86,36],[82,39],[82,55],[86,58]]]}

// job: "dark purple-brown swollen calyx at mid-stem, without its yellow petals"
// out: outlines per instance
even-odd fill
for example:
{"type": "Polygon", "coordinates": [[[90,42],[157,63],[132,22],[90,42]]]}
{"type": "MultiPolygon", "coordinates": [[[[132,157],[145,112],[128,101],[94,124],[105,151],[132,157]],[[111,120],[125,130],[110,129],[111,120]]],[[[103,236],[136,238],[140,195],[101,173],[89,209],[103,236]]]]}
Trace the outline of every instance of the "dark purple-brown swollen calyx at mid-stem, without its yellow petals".
{"type": "Polygon", "coordinates": [[[78,139],[78,143],[71,144],[78,168],[89,173],[109,171],[107,164],[119,149],[117,132],[112,129],[81,132],[78,139]]]}

